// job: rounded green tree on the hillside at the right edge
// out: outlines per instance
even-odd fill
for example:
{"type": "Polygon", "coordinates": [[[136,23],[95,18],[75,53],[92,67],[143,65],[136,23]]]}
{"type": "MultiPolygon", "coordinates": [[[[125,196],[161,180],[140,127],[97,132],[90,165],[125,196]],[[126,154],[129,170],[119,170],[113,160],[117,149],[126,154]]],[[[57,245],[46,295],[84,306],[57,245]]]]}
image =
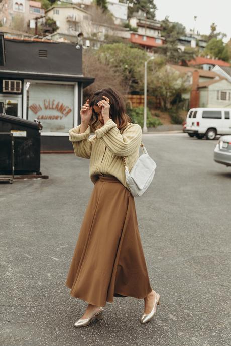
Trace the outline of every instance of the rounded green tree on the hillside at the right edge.
{"type": "Polygon", "coordinates": [[[211,57],[224,61],[230,60],[228,46],[223,43],[222,39],[216,39],[215,37],[207,43],[204,55],[210,55],[211,57]]]}

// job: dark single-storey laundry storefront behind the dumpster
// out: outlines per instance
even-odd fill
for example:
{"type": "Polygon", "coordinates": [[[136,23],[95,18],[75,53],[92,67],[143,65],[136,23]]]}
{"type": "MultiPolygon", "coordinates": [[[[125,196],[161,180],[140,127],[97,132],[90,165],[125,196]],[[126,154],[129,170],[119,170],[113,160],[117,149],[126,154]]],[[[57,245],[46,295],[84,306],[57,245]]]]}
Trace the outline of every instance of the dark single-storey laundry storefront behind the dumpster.
{"type": "Polygon", "coordinates": [[[6,38],[5,47],[0,113],[39,120],[42,151],[72,150],[68,131],[80,123],[82,91],[94,81],[82,75],[82,47],[6,38]]]}

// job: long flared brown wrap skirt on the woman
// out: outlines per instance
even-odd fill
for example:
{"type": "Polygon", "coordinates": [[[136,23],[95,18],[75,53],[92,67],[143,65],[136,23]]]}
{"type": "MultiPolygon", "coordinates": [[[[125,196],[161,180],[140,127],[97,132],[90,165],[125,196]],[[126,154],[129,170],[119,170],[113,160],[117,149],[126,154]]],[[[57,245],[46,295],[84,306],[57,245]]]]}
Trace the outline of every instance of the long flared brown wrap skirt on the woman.
{"type": "Polygon", "coordinates": [[[134,197],[116,177],[99,176],[94,185],[65,285],[97,306],[152,291],[134,197]]]}

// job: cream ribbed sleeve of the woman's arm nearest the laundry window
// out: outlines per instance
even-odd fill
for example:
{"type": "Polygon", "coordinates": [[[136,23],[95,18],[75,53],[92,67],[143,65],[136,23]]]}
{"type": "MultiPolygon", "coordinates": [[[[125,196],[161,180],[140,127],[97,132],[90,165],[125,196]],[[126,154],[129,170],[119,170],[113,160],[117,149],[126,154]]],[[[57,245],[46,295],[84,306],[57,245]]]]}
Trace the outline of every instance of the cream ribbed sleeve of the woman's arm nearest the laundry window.
{"type": "Polygon", "coordinates": [[[69,141],[72,142],[75,156],[90,158],[92,143],[95,136],[90,139],[90,126],[85,132],[79,133],[81,125],[78,125],[69,130],[69,141]]]}

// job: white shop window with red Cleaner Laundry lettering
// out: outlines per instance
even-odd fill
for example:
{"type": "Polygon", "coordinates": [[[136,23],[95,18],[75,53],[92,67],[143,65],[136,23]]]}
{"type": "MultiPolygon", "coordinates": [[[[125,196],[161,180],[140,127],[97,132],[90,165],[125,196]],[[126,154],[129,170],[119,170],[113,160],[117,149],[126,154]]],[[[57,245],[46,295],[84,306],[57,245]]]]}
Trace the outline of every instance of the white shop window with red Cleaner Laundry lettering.
{"type": "Polygon", "coordinates": [[[38,119],[42,132],[64,132],[74,126],[74,85],[27,83],[27,119],[38,119]]]}

